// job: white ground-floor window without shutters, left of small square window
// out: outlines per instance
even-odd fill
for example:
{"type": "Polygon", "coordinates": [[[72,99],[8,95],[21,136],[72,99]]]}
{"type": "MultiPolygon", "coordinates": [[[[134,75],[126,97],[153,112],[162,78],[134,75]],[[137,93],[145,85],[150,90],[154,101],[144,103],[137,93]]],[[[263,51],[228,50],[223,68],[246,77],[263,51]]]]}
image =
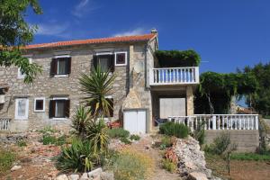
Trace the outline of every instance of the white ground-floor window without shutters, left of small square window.
{"type": "Polygon", "coordinates": [[[27,120],[29,100],[27,98],[17,98],[15,100],[15,119],[27,120]]]}

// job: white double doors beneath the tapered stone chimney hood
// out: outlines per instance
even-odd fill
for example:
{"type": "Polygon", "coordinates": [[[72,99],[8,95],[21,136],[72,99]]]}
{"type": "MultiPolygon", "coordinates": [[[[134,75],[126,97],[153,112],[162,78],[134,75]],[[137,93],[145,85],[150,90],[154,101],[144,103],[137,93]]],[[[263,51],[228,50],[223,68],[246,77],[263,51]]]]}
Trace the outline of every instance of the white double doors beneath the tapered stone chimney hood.
{"type": "Polygon", "coordinates": [[[146,133],[146,110],[125,110],[123,128],[131,134],[146,133]]]}

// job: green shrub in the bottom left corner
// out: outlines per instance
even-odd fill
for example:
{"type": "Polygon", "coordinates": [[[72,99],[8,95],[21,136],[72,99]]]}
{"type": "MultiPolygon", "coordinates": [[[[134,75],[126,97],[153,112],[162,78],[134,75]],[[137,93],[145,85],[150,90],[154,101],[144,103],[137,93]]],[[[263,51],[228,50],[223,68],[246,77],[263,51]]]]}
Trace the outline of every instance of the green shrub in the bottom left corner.
{"type": "Polygon", "coordinates": [[[16,159],[16,155],[11,150],[0,148],[0,174],[9,170],[16,159]]]}

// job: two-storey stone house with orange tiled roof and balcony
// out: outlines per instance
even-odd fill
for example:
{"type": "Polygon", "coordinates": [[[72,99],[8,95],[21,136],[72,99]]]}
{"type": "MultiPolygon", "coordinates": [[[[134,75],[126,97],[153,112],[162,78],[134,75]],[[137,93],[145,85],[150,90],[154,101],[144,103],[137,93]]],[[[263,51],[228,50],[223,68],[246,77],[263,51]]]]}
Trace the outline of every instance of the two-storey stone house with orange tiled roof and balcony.
{"type": "Polygon", "coordinates": [[[141,132],[149,132],[155,130],[157,119],[167,115],[193,115],[198,67],[158,68],[157,49],[156,30],[144,35],[27,46],[24,56],[39,64],[42,73],[26,85],[20,69],[0,67],[0,130],[38,130],[48,125],[69,128],[85,96],[78,78],[98,64],[117,76],[107,97],[113,103],[109,120],[124,121],[129,129],[134,125],[128,121],[134,118],[132,113],[142,111],[142,118],[135,117],[135,126],[143,124],[141,132]]]}

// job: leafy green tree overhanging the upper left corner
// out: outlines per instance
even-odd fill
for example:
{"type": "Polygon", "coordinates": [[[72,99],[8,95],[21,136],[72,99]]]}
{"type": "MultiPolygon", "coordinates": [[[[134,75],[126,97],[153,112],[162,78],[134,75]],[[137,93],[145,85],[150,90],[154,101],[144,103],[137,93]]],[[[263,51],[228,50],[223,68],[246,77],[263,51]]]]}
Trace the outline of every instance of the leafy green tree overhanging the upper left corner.
{"type": "Polygon", "coordinates": [[[0,67],[20,67],[25,83],[31,83],[41,72],[40,66],[22,56],[23,47],[33,40],[37,30],[24,19],[29,7],[35,14],[42,13],[38,0],[0,0],[0,67]]]}

